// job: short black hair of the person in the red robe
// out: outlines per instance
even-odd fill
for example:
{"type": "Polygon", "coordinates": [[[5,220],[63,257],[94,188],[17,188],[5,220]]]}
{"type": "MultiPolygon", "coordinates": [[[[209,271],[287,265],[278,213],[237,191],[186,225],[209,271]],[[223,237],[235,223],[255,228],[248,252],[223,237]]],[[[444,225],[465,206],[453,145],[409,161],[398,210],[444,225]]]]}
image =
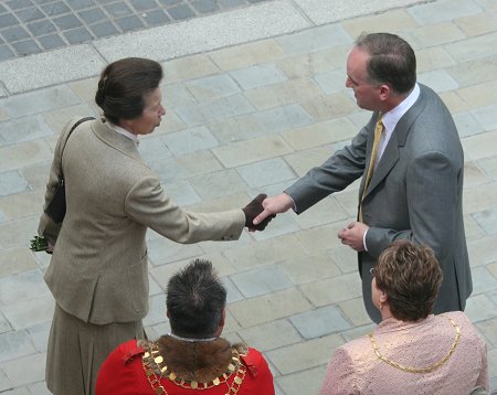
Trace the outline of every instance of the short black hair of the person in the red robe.
{"type": "Polygon", "coordinates": [[[226,289],[210,260],[195,259],[169,279],[166,305],[172,333],[210,338],[226,305],[226,289]]]}

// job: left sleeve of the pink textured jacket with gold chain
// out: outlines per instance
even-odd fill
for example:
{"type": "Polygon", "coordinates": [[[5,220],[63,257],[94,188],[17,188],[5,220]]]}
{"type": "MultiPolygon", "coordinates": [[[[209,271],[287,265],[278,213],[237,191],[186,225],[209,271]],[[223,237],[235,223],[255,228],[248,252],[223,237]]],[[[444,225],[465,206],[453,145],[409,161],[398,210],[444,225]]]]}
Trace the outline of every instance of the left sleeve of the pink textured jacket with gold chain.
{"type": "Polygon", "coordinates": [[[326,370],[319,395],[359,394],[357,372],[347,350],[338,348],[326,370]]]}

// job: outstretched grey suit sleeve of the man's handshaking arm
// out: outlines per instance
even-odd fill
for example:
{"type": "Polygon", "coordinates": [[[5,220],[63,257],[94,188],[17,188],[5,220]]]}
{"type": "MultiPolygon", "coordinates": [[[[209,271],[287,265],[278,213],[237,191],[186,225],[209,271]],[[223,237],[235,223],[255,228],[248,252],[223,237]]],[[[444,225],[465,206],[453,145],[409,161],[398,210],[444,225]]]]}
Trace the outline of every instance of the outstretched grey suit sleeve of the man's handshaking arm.
{"type": "Polygon", "coordinates": [[[309,170],[285,191],[295,202],[297,214],[303,213],[329,194],[343,190],[362,177],[371,125],[374,125],[373,118],[349,146],[335,152],[321,166],[309,170]]]}

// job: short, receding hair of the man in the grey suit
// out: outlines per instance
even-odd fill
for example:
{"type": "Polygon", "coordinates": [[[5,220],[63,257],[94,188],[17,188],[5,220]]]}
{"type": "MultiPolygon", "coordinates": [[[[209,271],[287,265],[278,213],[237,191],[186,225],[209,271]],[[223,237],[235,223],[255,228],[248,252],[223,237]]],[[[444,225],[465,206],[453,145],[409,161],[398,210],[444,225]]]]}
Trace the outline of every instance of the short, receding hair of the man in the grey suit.
{"type": "Polygon", "coordinates": [[[416,82],[416,55],[409,43],[395,34],[362,33],[356,47],[369,56],[370,83],[387,84],[396,94],[410,92],[416,82]]]}

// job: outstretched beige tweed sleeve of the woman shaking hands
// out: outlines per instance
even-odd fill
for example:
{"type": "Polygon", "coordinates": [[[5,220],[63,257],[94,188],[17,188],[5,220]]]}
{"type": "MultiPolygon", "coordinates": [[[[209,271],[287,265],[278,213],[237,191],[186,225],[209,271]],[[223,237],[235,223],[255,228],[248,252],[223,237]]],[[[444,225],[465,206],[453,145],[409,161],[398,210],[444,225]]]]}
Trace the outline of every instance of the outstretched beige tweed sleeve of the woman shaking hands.
{"type": "Polygon", "coordinates": [[[202,241],[240,238],[245,226],[241,209],[219,213],[183,211],[166,195],[157,177],[148,175],[137,182],[125,201],[126,213],[169,239],[190,244],[202,241]]]}

